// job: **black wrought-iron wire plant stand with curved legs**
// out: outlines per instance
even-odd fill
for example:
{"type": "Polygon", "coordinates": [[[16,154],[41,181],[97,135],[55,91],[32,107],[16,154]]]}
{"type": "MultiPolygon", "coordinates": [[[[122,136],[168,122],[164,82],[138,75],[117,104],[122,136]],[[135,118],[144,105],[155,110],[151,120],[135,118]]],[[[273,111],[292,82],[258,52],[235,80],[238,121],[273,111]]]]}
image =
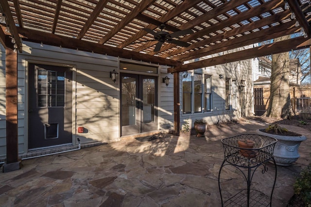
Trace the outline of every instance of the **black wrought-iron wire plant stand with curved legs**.
{"type": "Polygon", "coordinates": [[[236,207],[267,207],[272,206],[272,194],[276,184],[276,161],[273,158],[273,150],[277,140],[275,138],[262,136],[258,134],[240,134],[237,136],[222,139],[225,159],[219,169],[218,186],[222,207],[236,206],[236,207]],[[239,140],[250,140],[254,142],[252,149],[241,148],[238,145],[239,140]],[[251,182],[255,171],[263,166],[262,174],[268,171],[267,162],[271,160],[275,166],[275,177],[273,181],[273,188],[270,198],[265,193],[251,189],[251,182]],[[228,200],[223,201],[220,175],[222,169],[226,165],[236,167],[244,176],[247,188],[236,193],[228,200]],[[243,169],[245,169],[243,171],[243,169]]]}

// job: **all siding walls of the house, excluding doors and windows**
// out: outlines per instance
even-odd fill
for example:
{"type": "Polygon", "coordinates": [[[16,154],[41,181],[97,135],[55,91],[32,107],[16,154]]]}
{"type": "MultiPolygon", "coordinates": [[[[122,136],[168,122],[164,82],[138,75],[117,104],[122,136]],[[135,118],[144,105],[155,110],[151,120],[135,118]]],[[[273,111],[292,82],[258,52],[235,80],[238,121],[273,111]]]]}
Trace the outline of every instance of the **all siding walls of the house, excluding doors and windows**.
{"type": "MultiPolygon", "coordinates": [[[[0,158],[5,156],[5,53],[1,48],[0,59],[0,158]]],[[[46,46],[23,42],[23,53],[18,54],[18,150],[20,154],[28,152],[28,64],[50,64],[68,66],[73,69],[73,125],[72,142],[76,138],[81,143],[115,142],[120,140],[120,82],[115,83],[110,78],[110,72],[119,70],[117,57],[93,54],[91,52],[46,46]],[[85,127],[86,133],[78,133],[77,127],[85,127]]],[[[169,66],[142,63],[126,60],[138,64],[158,66],[158,130],[169,132],[173,130],[173,74],[167,74],[169,66]],[[168,76],[170,84],[162,83],[168,76]]],[[[225,65],[201,68],[195,72],[212,76],[212,111],[182,114],[184,119],[204,118],[208,124],[215,124],[227,120],[238,119],[241,114],[250,113],[252,102],[252,61],[242,61],[225,65]],[[223,79],[219,75],[224,76],[223,79]],[[237,107],[225,110],[225,78],[236,80],[241,85],[245,81],[244,92],[238,90],[236,95],[237,107]],[[244,96],[244,102],[241,98],[244,96]],[[242,104],[243,108],[242,109],[242,104]]],[[[180,74],[181,75],[181,74],[180,74]]],[[[180,81],[180,97],[182,98],[180,81]]],[[[182,103],[182,100],[180,100],[182,103]]],[[[181,106],[182,109],[182,106],[181,106]]]]}

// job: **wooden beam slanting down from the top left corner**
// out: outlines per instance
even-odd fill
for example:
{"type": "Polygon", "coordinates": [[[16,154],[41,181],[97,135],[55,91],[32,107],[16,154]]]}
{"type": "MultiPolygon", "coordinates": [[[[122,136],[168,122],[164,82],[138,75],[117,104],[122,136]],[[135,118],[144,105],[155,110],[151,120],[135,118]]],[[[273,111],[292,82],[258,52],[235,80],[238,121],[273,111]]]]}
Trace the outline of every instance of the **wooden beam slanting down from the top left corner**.
{"type": "Polygon", "coordinates": [[[6,16],[6,20],[7,20],[6,24],[9,25],[10,32],[11,32],[12,36],[15,39],[15,42],[16,42],[16,45],[17,45],[17,50],[19,52],[22,52],[20,38],[19,38],[19,35],[18,35],[18,32],[17,32],[17,27],[15,25],[15,22],[14,22],[14,19],[13,19],[11,10],[10,10],[9,3],[8,3],[7,0],[1,0],[0,1],[0,5],[1,5],[1,8],[3,10],[3,13],[6,16]]]}

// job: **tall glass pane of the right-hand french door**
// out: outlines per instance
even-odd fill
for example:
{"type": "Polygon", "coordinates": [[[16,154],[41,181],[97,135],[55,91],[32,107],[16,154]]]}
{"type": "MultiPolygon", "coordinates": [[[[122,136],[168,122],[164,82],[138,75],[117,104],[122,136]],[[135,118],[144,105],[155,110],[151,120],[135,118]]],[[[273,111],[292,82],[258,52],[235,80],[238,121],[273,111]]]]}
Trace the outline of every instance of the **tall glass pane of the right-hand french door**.
{"type": "Polygon", "coordinates": [[[155,122],[155,79],[142,80],[143,122],[155,122]]]}

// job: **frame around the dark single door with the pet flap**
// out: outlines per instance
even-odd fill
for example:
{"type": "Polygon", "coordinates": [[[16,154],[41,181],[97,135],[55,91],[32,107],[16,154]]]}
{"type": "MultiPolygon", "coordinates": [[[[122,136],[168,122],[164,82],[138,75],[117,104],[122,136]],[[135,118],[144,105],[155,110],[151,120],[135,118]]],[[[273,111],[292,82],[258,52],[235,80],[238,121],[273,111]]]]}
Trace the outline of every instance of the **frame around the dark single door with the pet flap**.
{"type": "MultiPolygon", "coordinates": [[[[36,59],[23,59],[24,60],[24,149],[23,152],[28,152],[28,127],[29,127],[29,123],[28,123],[28,110],[29,110],[29,64],[46,64],[46,65],[52,65],[52,66],[63,66],[63,67],[70,67],[71,71],[72,71],[72,112],[71,112],[71,116],[72,116],[72,122],[71,122],[71,134],[72,134],[72,138],[71,138],[71,142],[73,145],[77,144],[76,141],[76,133],[75,133],[75,128],[76,128],[76,122],[75,122],[75,117],[76,117],[76,65],[75,64],[71,64],[71,63],[65,63],[65,62],[51,62],[51,61],[42,61],[42,59],[45,58],[40,58],[40,60],[36,60],[36,59]]],[[[18,86],[20,87],[20,86],[18,86]]]]}

